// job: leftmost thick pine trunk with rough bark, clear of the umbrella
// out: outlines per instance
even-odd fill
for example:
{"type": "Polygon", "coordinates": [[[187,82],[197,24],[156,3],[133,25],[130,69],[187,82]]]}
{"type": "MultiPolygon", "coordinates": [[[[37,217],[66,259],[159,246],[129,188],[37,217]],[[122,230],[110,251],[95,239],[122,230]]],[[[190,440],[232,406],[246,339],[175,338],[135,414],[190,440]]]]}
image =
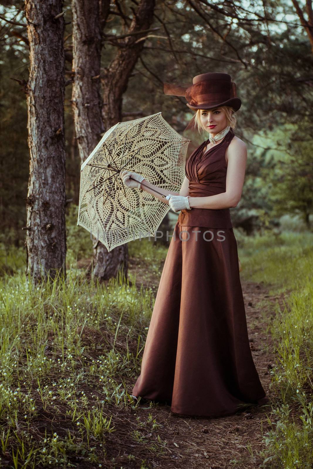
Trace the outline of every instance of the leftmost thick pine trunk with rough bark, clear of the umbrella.
{"type": "Polygon", "coordinates": [[[66,276],[63,0],[25,0],[30,42],[27,84],[30,175],[27,271],[35,283],[66,276]]]}

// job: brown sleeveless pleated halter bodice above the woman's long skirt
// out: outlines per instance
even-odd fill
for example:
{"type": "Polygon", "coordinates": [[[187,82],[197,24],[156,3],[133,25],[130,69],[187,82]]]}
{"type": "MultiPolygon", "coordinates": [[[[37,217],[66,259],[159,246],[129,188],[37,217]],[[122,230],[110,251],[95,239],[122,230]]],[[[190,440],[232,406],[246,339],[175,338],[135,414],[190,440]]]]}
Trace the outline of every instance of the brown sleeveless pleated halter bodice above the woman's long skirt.
{"type": "MultiPolygon", "coordinates": [[[[185,165],[190,197],[213,196],[226,191],[225,152],[234,135],[233,129],[230,129],[222,142],[209,148],[204,155],[202,152],[209,140],[203,142],[191,153],[185,165]]],[[[178,222],[188,227],[232,228],[229,208],[181,210],[178,222]]]]}

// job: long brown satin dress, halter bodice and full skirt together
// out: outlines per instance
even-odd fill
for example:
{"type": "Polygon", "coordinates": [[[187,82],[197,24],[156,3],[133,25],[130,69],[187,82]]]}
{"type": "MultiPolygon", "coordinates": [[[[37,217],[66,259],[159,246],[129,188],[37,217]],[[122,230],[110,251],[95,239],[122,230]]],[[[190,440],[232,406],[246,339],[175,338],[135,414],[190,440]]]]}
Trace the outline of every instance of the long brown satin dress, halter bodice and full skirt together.
{"type": "MultiPolygon", "coordinates": [[[[226,190],[232,129],[186,162],[191,197],[226,190]]],[[[132,394],[190,416],[233,414],[267,402],[249,345],[229,208],[182,210],[160,278],[132,394]]]]}

